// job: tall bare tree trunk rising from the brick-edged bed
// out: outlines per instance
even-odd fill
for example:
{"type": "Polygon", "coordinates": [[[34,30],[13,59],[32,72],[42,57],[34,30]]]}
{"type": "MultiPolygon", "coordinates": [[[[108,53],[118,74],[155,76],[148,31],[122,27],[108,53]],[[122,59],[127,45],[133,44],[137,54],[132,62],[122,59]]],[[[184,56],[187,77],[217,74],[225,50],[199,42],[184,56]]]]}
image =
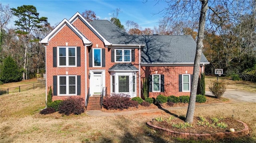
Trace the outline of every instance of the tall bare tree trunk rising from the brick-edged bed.
{"type": "Polygon", "coordinates": [[[196,106],[196,91],[198,86],[197,85],[198,77],[200,74],[200,60],[202,55],[202,48],[204,47],[203,45],[204,27],[205,27],[205,20],[206,20],[206,12],[208,9],[208,0],[200,0],[200,1],[202,3],[202,7],[201,7],[200,19],[199,19],[198,39],[196,44],[196,57],[194,61],[193,80],[192,80],[192,86],[190,91],[188,111],[185,119],[185,121],[188,123],[193,122],[194,110],[196,106]]]}

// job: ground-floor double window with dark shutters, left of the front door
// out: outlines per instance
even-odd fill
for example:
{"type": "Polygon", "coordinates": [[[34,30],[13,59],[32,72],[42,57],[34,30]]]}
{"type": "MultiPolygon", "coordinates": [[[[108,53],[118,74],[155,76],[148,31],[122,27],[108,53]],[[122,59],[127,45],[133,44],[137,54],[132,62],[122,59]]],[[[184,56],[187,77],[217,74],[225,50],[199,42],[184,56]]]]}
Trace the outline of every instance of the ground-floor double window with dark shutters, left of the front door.
{"type": "Polygon", "coordinates": [[[58,76],[59,95],[76,95],[76,76],[58,76]]]}

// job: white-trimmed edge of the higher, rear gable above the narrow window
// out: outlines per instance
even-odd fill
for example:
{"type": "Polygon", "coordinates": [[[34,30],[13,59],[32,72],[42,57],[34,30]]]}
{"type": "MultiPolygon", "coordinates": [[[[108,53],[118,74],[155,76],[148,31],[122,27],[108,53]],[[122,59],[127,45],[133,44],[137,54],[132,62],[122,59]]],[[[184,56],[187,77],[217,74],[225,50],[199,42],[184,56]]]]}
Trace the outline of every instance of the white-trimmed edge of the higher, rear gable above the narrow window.
{"type": "Polygon", "coordinates": [[[111,43],[106,40],[89,22],[85,20],[85,18],[79,13],[76,12],[72,18],[70,18],[68,21],[73,24],[77,19],[80,19],[95,35],[97,35],[101,41],[104,42],[105,45],[111,45],[111,43]]]}

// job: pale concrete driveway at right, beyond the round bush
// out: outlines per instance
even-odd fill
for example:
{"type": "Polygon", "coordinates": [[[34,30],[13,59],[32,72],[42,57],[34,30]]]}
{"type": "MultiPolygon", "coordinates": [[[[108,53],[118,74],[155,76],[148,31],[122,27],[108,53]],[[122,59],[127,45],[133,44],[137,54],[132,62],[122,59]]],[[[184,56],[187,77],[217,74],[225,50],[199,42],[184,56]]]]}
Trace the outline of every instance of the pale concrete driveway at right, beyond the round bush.
{"type": "MultiPolygon", "coordinates": [[[[212,95],[210,91],[206,91],[205,94],[212,95]]],[[[223,97],[230,99],[232,102],[256,102],[256,92],[227,89],[223,97]]]]}

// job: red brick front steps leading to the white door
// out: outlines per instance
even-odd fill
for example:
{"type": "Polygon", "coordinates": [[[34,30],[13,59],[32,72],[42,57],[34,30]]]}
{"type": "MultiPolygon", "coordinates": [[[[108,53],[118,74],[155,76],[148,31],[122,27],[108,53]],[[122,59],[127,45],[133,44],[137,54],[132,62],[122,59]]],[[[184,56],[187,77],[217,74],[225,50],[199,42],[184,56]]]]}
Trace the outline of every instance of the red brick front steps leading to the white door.
{"type": "Polygon", "coordinates": [[[100,108],[100,95],[92,95],[89,97],[86,110],[101,110],[100,108]]]}

